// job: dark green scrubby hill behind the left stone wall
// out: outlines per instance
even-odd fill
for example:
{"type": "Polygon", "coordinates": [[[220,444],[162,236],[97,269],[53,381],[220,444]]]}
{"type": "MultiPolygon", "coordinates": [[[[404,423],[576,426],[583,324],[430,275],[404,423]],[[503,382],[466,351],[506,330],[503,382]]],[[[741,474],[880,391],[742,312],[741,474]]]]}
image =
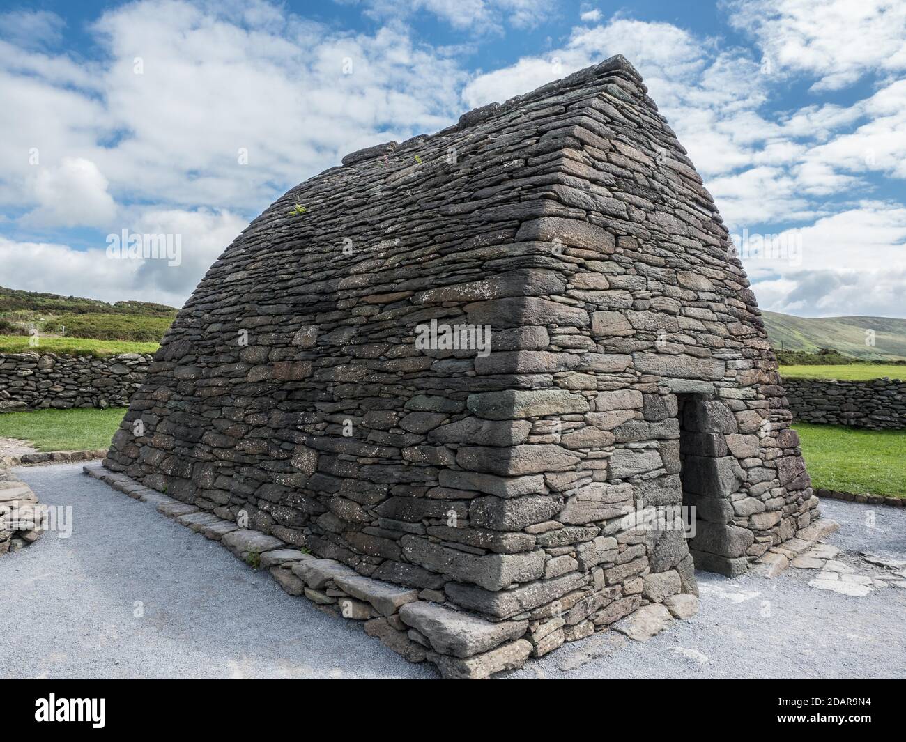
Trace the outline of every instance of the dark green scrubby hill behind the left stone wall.
{"type": "Polygon", "coordinates": [[[158,342],[177,310],[167,304],[116,302],[0,287],[0,335],[158,342]]]}

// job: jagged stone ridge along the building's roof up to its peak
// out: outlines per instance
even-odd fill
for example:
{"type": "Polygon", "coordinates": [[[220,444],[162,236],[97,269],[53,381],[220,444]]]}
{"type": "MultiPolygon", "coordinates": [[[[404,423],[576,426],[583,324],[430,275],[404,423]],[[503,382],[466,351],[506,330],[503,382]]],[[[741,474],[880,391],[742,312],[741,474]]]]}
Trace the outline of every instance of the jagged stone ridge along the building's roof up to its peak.
{"type": "MultiPolygon", "coordinates": [[[[645,95],[647,88],[642,84],[641,74],[635,67],[632,66],[632,63],[626,59],[622,54],[614,54],[612,57],[608,57],[603,62],[598,64],[593,64],[590,67],[585,67],[582,70],[573,72],[572,74],[567,75],[566,77],[560,78],[559,80],[554,80],[553,82],[546,82],[539,88],[536,88],[532,92],[526,92],[523,95],[516,95],[514,98],[510,98],[504,103],[488,103],[485,106],[479,106],[478,108],[472,109],[471,111],[466,111],[460,117],[457,123],[453,126],[448,126],[446,129],[439,130],[434,134],[419,134],[418,136],[412,137],[409,140],[405,140],[400,144],[398,141],[387,141],[382,144],[375,144],[371,147],[365,147],[363,149],[356,149],[354,152],[350,152],[342,159],[342,164],[344,167],[350,167],[359,162],[364,162],[366,160],[380,158],[381,155],[386,155],[392,152],[395,149],[406,149],[410,146],[420,144],[422,141],[433,139],[434,137],[444,136],[446,134],[452,134],[457,131],[462,131],[468,129],[469,127],[476,126],[482,121],[491,119],[501,113],[506,113],[506,111],[512,111],[518,106],[530,102],[536,101],[540,98],[545,98],[548,95],[551,95],[554,92],[561,90],[568,90],[570,88],[577,88],[581,85],[586,84],[587,82],[593,81],[595,78],[604,77],[610,75],[613,72],[622,72],[633,82],[637,82],[641,89],[642,95],[645,95]]],[[[647,95],[645,95],[647,98],[647,95]]]]}

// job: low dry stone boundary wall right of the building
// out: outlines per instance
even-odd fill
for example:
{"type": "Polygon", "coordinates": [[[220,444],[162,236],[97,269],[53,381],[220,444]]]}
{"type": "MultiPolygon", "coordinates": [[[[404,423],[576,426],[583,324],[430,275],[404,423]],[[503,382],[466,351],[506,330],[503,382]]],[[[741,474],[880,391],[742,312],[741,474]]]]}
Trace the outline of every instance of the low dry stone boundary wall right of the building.
{"type": "Polygon", "coordinates": [[[801,422],[906,429],[906,381],[784,379],[784,387],[793,417],[801,422]]]}

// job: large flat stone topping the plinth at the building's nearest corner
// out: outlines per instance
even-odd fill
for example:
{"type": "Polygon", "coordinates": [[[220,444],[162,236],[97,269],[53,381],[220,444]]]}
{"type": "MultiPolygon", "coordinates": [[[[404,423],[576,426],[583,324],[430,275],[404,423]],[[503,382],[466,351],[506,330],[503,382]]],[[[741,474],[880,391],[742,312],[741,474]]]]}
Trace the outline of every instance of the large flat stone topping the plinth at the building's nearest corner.
{"type": "Polygon", "coordinates": [[[471,613],[452,611],[434,602],[409,602],[400,608],[400,618],[428,638],[440,654],[472,657],[517,639],[527,621],[492,623],[471,613]]]}

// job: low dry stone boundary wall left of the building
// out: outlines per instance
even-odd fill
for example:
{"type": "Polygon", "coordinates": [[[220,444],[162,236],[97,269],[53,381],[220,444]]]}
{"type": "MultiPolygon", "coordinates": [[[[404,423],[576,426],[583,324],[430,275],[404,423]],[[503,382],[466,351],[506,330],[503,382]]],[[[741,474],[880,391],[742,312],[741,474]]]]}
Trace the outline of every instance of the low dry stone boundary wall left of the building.
{"type": "Polygon", "coordinates": [[[151,356],[109,358],[56,353],[0,353],[0,412],[73,407],[125,407],[151,356]]]}

